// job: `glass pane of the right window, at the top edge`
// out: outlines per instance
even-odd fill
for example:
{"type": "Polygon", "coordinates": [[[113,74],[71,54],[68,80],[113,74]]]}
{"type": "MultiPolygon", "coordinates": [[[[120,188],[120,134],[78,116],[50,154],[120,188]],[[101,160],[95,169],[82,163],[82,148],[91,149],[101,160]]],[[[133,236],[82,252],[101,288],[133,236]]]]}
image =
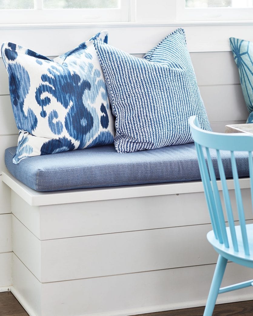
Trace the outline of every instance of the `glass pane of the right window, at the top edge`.
{"type": "Polygon", "coordinates": [[[252,0],[185,0],[186,8],[251,8],[252,0]]]}

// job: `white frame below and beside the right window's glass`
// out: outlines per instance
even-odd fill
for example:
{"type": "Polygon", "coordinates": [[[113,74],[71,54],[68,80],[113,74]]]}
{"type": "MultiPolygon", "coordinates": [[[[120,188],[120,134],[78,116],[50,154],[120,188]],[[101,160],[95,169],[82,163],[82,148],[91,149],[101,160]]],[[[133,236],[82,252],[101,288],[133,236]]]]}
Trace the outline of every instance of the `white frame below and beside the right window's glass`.
{"type": "Polygon", "coordinates": [[[253,8],[185,8],[185,0],[176,1],[177,21],[252,21],[253,8]]]}

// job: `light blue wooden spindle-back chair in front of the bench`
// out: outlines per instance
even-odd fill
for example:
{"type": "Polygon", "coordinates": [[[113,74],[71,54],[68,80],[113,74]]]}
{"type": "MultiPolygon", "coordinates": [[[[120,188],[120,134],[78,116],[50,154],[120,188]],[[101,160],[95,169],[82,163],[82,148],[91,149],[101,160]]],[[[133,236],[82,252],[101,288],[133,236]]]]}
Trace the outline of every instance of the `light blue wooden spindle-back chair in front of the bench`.
{"type": "Polygon", "coordinates": [[[189,123],[197,150],[201,179],[213,227],[213,230],[207,234],[207,240],[219,254],[204,312],[204,316],[211,316],[218,294],[253,286],[253,280],[249,280],[220,288],[228,260],[253,268],[253,224],[245,224],[244,206],[234,155],[235,151],[247,151],[249,153],[250,194],[253,197],[253,161],[251,153],[251,150],[253,150],[253,135],[207,132],[199,128],[199,122],[195,116],[189,118],[189,123]],[[222,208],[209,148],[216,149],[217,152],[225,211],[222,208]],[[220,150],[229,150],[231,152],[236,208],[240,223],[237,226],[234,223],[220,150]],[[225,214],[223,212],[226,213],[228,227],[225,225],[225,214]]]}

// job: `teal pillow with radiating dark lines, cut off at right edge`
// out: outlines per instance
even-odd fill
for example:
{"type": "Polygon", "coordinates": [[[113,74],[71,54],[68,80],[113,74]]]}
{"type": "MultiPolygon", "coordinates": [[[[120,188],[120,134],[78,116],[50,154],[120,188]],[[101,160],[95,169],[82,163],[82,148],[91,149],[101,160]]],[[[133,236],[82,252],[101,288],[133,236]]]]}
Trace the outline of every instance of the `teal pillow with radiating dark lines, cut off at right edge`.
{"type": "Polygon", "coordinates": [[[244,100],[250,113],[246,123],[253,123],[253,43],[231,37],[230,45],[239,70],[244,100]]]}

